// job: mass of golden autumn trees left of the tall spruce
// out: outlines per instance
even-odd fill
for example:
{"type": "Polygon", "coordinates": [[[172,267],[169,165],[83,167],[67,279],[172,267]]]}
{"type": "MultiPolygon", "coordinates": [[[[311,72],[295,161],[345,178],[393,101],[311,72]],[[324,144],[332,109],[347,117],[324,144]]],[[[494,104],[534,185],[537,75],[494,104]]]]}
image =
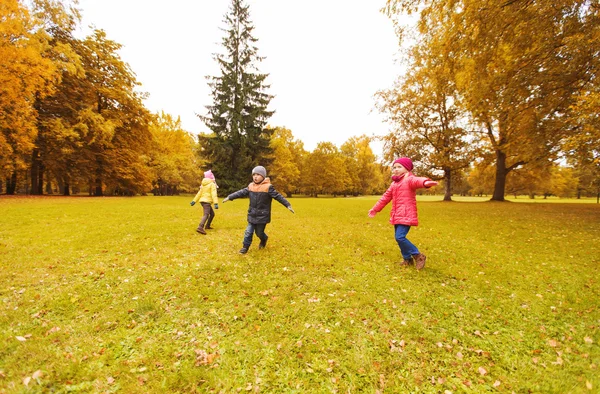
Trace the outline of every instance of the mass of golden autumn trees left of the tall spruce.
{"type": "Polygon", "coordinates": [[[191,185],[198,162],[178,119],[151,114],[121,45],[74,36],[71,2],[0,4],[0,191],[133,195],[191,185]]]}

